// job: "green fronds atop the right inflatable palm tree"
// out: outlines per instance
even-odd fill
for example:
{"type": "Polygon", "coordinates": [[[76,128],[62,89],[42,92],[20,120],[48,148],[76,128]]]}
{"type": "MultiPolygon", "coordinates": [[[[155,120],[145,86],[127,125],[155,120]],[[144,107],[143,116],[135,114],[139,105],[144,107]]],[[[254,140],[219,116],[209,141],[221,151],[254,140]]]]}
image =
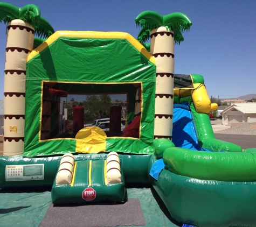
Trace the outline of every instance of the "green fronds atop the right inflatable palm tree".
{"type": "MultiPolygon", "coordinates": [[[[152,30],[160,26],[165,26],[167,30],[174,31],[174,40],[178,44],[184,40],[182,32],[188,31],[192,25],[189,17],[181,12],[174,12],[162,16],[155,11],[144,11],[136,17],[135,22],[137,26],[142,26],[144,30],[152,30]]],[[[149,39],[150,34],[149,36],[141,32],[140,34],[142,37],[138,37],[138,40],[144,42],[149,39]]]]}

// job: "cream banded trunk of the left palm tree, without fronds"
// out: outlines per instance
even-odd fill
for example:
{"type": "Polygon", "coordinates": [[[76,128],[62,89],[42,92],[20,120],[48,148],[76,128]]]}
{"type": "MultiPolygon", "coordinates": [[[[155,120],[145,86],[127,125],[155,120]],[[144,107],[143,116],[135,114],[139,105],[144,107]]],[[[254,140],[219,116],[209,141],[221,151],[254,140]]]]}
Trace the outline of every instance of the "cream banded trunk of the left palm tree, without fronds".
{"type": "Polygon", "coordinates": [[[4,155],[24,152],[26,59],[34,28],[15,19],[8,23],[4,70],[4,155]]]}

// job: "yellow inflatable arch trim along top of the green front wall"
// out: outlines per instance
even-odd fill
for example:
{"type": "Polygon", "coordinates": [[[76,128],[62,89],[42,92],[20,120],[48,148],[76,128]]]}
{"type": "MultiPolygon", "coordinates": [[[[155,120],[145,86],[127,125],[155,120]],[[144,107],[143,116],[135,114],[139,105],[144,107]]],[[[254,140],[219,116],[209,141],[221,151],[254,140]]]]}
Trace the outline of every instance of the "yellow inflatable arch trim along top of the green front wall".
{"type": "Polygon", "coordinates": [[[52,34],[46,39],[43,44],[38,46],[36,49],[27,56],[27,61],[30,61],[37,54],[43,51],[45,48],[50,46],[55,40],[60,37],[77,37],[77,38],[98,38],[98,39],[126,39],[132,44],[141,54],[152,63],[156,64],[153,55],[151,55],[142,44],[126,32],[93,32],[93,31],[58,31],[52,34]]]}

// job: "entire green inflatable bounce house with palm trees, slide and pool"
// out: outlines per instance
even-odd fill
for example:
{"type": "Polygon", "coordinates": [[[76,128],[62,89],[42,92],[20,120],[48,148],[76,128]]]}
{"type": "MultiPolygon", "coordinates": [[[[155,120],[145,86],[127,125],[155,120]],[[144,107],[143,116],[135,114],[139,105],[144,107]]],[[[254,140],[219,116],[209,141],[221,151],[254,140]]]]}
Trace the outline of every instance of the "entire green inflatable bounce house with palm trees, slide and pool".
{"type": "Polygon", "coordinates": [[[209,118],[217,105],[203,76],[174,74],[188,16],[144,11],[135,39],[54,32],[34,5],[0,9],[8,23],[1,188],[52,186],[58,204],[125,202],[126,185],[151,184],[179,223],[256,225],[256,148],[217,140],[209,118]],[[72,94],[126,94],[126,127],[119,107],[110,110],[108,136],[84,127],[85,110],[75,107],[66,132],[60,99],[72,94]]]}

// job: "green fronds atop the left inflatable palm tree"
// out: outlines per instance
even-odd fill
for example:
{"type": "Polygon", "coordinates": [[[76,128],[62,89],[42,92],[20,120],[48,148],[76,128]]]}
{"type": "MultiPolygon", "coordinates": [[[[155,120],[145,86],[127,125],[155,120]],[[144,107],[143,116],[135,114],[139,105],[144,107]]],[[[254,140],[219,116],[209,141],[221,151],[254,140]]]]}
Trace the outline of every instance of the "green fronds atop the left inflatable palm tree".
{"type": "Polygon", "coordinates": [[[18,8],[9,3],[0,3],[0,22],[8,23],[14,19],[21,19],[31,24],[36,34],[43,37],[49,37],[54,30],[46,19],[40,16],[38,6],[29,4],[22,8],[18,8]]]}

